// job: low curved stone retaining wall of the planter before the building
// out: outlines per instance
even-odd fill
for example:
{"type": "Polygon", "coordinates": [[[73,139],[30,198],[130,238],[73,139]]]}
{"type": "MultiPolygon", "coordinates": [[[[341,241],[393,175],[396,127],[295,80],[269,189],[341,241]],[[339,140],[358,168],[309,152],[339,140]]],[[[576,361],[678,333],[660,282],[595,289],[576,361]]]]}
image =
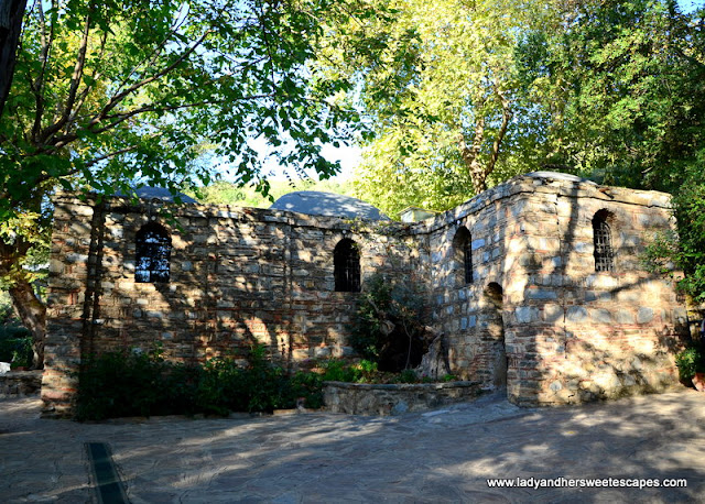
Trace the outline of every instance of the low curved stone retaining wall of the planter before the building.
{"type": "Polygon", "coordinates": [[[475,399],[480,382],[369,384],[325,382],[323,401],[333,413],[401,415],[475,399]]]}

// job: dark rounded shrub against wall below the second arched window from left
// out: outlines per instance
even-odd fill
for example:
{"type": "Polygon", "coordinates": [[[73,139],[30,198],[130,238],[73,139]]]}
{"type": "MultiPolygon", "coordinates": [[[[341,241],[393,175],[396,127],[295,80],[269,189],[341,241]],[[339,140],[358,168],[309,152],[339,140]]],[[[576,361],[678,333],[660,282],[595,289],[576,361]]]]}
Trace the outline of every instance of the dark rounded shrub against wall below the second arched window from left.
{"type": "Polygon", "coordinates": [[[380,371],[415,368],[430,343],[422,313],[423,300],[413,286],[373,275],[358,302],[350,346],[380,371]]]}

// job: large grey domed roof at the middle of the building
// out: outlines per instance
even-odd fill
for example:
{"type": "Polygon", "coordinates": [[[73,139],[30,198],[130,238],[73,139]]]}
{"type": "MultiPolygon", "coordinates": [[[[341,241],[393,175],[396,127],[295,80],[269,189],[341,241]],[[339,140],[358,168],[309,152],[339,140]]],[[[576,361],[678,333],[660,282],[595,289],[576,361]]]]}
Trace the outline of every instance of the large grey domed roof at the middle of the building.
{"type": "Polygon", "coordinates": [[[289,193],[274,201],[270,208],[272,210],[296,211],[310,216],[389,220],[389,217],[382,213],[379,208],[361,199],[318,190],[289,193]]]}

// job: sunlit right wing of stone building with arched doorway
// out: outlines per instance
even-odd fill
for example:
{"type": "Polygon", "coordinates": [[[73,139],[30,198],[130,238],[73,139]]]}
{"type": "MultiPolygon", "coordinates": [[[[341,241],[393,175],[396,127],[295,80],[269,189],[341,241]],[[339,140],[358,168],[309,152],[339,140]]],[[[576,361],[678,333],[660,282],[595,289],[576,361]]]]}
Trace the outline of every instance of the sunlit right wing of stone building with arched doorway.
{"type": "Polygon", "coordinates": [[[486,388],[506,384],[510,399],[525,405],[677,383],[672,355],[685,308],[673,284],[640,260],[654,233],[673,226],[668,195],[562,174],[520,176],[424,226],[434,324],[449,339],[454,373],[486,388]],[[611,216],[611,272],[595,271],[599,210],[611,216]],[[468,285],[453,245],[463,226],[473,239],[468,285]]]}

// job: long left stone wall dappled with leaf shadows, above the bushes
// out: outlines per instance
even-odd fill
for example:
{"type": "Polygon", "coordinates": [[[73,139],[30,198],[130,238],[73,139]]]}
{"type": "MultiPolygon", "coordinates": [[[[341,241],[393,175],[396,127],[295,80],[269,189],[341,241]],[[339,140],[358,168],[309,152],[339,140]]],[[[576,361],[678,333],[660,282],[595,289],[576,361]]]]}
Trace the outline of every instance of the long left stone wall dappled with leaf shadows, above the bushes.
{"type": "MultiPolygon", "coordinates": [[[[252,343],[283,362],[349,354],[358,294],[335,292],[333,251],[359,245],[362,281],[409,277],[414,250],[359,222],[251,208],[111,198],[55,201],[43,398],[69,412],[82,355],[115,349],[203,361],[243,355],[252,343]],[[155,221],[170,233],[167,283],[135,283],[135,235],[155,221]]],[[[394,227],[394,224],[391,224],[394,227]]]]}

